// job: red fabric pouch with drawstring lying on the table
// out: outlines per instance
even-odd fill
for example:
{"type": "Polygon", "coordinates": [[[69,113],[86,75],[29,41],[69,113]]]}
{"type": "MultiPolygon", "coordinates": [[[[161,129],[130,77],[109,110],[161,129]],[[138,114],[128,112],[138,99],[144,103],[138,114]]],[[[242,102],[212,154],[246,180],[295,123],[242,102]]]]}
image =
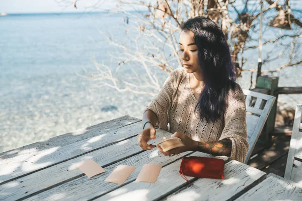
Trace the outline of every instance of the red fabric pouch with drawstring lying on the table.
{"type": "Polygon", "coordinates": [[[182,158],[179,174],[190,183],[185,175],[200,178],[223,179],[223,170],[224,160],[222,159],[190,156],[182,158]]]}

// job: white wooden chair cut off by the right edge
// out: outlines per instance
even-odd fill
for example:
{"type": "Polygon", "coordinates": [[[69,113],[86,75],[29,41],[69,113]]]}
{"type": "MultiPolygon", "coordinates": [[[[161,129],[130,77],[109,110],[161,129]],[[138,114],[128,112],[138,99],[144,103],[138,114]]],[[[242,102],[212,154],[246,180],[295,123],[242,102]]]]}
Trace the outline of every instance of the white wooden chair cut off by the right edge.
{"type": "Polygon", "coordinates": [[[302,105],[297,105],[284,178],[302,183],[302,105]]]}

